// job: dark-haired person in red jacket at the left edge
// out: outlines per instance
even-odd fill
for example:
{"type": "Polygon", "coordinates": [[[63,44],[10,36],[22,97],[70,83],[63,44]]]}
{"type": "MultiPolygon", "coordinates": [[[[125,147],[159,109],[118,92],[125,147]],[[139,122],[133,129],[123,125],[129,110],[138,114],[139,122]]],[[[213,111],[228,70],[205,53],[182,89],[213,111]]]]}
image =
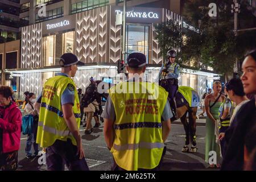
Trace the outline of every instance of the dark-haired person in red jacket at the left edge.
{"type": "Polygon", "coordinates": [[[10,86],[0,86],[0,171],[18,168],[22,114],[12,96],[10,86]]]}

